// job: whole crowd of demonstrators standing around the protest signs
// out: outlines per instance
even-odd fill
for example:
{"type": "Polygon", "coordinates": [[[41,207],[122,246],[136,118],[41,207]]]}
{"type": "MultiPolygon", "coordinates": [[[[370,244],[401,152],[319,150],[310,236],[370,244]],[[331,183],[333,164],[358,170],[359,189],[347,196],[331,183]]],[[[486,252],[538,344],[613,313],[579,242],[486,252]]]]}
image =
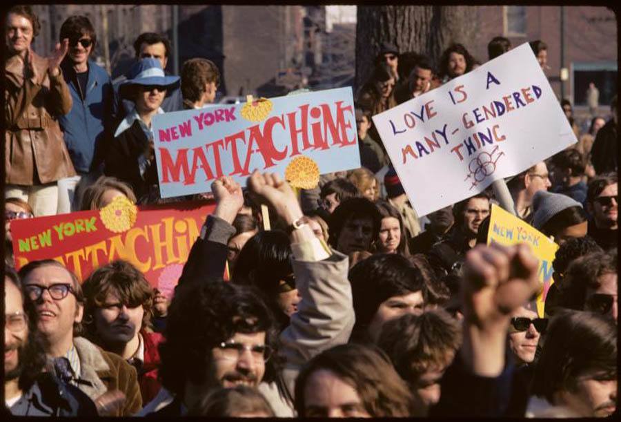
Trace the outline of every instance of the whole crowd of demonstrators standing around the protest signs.
{"type": "MultiPolygon", "coordinates": [[[[46,58],[31,48],[40,30],[29,6],[8,11],[6,414],[615,412],[615,100],[609,121],[592,115],[586,133],[563,101],[578,144],[507,182],[515,214],[560,246],[541,315],[529,246],[487,245],[493,193],[417,215],[371,119],[476,68],[465,46],[449,46],[436,67],[382,45],[355,96],[359,169],[299,191],[254,171],[247,186],[223,177],[210,193],[164,200],[151,119],[213,103],[217,66],[190,59],[169,75],[170,43],[148,32],[135,41],[135,64],[112,81],[91,58],[87,17],[66,19],[46,58]],[[14,269],[12,220],[102,209],[119,196],[152,204],[207,195],[215,210],[172,297],[124,260],[86,280],[53,259],[14,269]]],[[[546,44],[531,47],[545,70],[546,44]]],[[[495,37],[489,59],[510,48],[495,37]]]]}

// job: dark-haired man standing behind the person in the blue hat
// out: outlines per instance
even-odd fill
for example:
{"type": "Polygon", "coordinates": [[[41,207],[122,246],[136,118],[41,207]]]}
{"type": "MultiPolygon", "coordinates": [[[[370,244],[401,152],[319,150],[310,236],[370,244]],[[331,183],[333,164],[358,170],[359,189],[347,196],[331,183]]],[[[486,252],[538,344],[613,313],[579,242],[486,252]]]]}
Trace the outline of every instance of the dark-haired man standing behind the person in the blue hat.
{"type": "MultiPolygon", "coordinates": [[[[172,54],[168,38],[164,35],[156,34],[155,32],[143,32],[140,34],[136,41],[134,41],[134,51],[136,52],[137,61],[151,57],[159,60],[162,69],[166,69],[168,58],[172,54]]],[[[114,80],[116,93],[119,92],[121,82],[126,79],[128,79],[128,75],[122,75],[114,80]]],[[[134,108],[134,104],[127,99],[122,99],[121,104],[122,108],[119,107],[119,118],[124,117],[132,111],[132,108],[134,108]]],[[[181,94],[181,88],[179,87],[168,93],[166,98],[164,98],[164,102],[161,103],[161,109],[166,113],[170,111],[183,110],[183,108],[184,98],[181,94]]]]}

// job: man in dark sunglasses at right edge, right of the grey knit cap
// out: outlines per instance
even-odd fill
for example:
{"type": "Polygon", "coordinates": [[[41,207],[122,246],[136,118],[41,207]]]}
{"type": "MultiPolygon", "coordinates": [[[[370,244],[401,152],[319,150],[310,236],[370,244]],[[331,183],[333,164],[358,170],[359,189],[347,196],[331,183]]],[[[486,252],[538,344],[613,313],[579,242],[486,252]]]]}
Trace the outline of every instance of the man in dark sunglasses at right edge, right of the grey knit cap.
{"type": "Polygon", "coordinates": [[[591,182],[586,192],[586,209],[592,215],[588,234],[603,249],[618,243],[619,191],[616,173],[600,175],[591,182]]]}

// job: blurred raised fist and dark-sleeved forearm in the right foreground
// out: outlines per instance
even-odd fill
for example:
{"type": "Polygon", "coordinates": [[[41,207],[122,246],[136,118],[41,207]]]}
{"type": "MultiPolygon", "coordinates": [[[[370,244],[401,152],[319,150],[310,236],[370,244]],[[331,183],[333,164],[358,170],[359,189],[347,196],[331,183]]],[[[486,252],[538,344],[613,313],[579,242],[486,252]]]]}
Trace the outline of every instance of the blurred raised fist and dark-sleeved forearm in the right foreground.
{"type": "Polygon", "coordinates": [[[442,378],[440,403],[432,416],[504,414],[513,378],[506,347],[510,315],[538,291],[537,267],[526,244],[477,245],[468,252],[462,285],[464,343],[442,378]]]}

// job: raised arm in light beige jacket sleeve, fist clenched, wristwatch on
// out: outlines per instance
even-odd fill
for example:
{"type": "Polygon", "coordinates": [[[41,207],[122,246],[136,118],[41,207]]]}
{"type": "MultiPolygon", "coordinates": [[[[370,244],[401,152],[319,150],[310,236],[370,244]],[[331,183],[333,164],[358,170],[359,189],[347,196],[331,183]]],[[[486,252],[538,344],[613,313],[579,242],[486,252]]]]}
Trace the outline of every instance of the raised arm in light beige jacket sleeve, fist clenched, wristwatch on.
{"type": "Polygon", "coordinates": [[[330,347],[347,343],[354,325],[348,258],[331,249],[306,224],[290,186],[278,175],[257,172],[248,180],[250,192],[270,204],[290,228],[293,274],[302,300],[281,333],[286,358],[284,381],[293,396],[299,368],[330,347]]]}

